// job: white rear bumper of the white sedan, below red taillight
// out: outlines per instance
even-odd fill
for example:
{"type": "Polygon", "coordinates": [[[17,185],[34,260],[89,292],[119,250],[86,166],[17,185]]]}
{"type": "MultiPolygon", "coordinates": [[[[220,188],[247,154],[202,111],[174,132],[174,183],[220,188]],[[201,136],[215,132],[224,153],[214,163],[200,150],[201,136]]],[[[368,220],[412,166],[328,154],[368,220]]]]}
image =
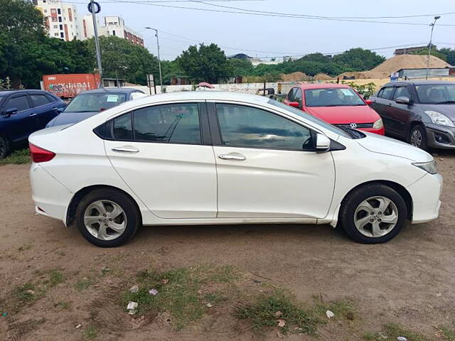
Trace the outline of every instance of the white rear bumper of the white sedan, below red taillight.
{"type": "Polygon", "coordinates": [[[71,191],[53,178],[39,163],[32,163],[30,180],[36,212],[65,222],[66,210],[73,196],[71,191]]]}

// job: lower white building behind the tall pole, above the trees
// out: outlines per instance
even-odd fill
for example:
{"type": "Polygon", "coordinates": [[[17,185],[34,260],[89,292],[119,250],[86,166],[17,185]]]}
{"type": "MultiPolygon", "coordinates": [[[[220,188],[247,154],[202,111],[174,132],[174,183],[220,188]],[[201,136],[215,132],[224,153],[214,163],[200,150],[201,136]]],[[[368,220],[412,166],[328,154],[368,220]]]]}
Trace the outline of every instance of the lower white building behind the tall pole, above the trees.
{"type": "MultiPolygon", "coordinates": [[[[119,16],[105,16],[102,18],[102,25],[100,25],[100,18],[97,18],[98,36],[115,36],[127,39],[129,42],[144,47],[144,38],[136,31],[128,28],[125,25],[123,18],[119,16]]],[[[81,40],[89,39],[95,36],[93,30],[93,19],[91,15],[82,18],[81,40]]]]}

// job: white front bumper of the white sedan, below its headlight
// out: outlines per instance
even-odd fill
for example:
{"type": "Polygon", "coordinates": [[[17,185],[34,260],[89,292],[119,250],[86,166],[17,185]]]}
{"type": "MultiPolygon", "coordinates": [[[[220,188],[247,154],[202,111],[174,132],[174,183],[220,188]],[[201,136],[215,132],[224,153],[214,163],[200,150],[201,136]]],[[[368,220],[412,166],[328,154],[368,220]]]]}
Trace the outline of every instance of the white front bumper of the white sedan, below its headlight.
{"type": "Polygon", "coordinates": [[[437,219],[441,207],[442,175],[428,173],[407,190],[412,197],[412,224],[437,219]]]}

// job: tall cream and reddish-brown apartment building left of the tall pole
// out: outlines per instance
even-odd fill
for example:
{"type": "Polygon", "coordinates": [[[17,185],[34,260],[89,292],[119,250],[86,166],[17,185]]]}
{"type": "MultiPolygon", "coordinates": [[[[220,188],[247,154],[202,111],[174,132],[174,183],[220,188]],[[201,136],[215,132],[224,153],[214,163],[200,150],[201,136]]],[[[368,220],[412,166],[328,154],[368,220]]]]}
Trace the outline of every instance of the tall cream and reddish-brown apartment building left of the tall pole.
{"type": "Polygon", "coordinates": [[[43,13],[45,28],[50,37],[62,40],[80,39],[80,17],[73,4],[61,0],[33,0],[43,13]]]}

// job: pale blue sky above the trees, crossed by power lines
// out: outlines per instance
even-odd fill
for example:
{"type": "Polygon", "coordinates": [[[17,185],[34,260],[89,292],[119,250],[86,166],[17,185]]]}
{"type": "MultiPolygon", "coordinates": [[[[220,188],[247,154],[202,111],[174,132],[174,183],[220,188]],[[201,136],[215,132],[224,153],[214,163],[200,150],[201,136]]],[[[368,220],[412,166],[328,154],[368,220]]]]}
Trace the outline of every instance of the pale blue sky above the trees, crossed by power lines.
{"type": "MultiPolygon", "coordinates": [[[[84,0],[68,0],[68,2],[84,0]]],[[[217,43],[226,55],[247,53],[270,58],[321,52],[341,53],[349,48],[380,48],[376,53],[391,57],[395,46],[426,45],[433,16],[441,14],[434,27],[433,43],[438,48],[455,48],[455,0],[99,0],[100,16],[122,16],[130,28],[144,36],[146,48],[156,55],[156,38],[151,26],[159,30],[161,59],[173,60],[188,45],[217,43]],[[125,2],[122,2],[125,1],[125,2]],[[132,3],[132,1],[136,3],[132,3]],[[160,6],[156,6],[160,5],[160,6]],[[164,6],[177,6],[168,8],[164,6]],[[294,15],[349,17],[364,21],[423,23],[398,25],[334,21],[279,16],[257,16],[182,9],[192,7],[216,11],[248,9],[294,15]],[[450,13],[451,14],[442,14],[450,13]],[[429,16],[419,16],[429,15],[429,16]],[[411,18],[365,17],[417,16],[411,18]],[[454,26],[443,26],[454,25],[454,26]]],[[[88,2],[88,0],[87,0],[88,2]]],[[[84,4],[77,4],[82,13],[84,4]]],[[[245,12],[245,11],[244,11],[245,12]]],[[[257,12],[256,12],[257,13],[257,12]]],[[[348,19],[351,20],[351,19],[348,19]]]]}

